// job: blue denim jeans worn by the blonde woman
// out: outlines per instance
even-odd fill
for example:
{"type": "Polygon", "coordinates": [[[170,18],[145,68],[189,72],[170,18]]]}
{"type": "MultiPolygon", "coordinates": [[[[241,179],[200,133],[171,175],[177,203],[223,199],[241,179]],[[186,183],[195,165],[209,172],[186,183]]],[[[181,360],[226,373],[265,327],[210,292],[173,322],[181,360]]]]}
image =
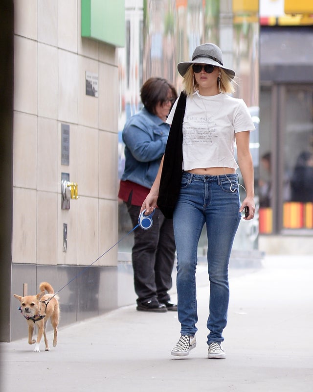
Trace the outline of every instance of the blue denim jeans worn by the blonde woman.
{"type": "Polygon", "coordinates": [[[210,304],[207,343],[223,342],[229,303],[228,264],[241,219],[238,175],[184,172],[173,222],[177,248],[178,318],[181,335],[197,332],[198,242],[206,224],[210,304]]]}

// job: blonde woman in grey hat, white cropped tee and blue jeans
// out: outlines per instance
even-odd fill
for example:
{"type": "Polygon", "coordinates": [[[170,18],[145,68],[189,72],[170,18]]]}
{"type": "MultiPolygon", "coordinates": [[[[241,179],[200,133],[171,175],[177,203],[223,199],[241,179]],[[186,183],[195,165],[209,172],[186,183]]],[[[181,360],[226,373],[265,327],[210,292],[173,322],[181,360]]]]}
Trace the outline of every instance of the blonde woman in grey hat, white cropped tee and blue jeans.
{"type": "Polygon", "coordinates": [[[175,102],[165,154],[141,211],[156,207],[173,216],[177,247],[177,293],[180,338],[171,354],[186,356],[196,346],[195,272],[203,225],[208,241],[210,282],[207,320],[208,358],[224,359],[221,345],[229,302],[228,263],[242,213],[255,213],[249,132],[254,130],[245,102],[232,98],[235,72],[223,64],[219,47],[198,46],[191,61],[178,64],[184,90],[175,102]],[[238,164],[234,158],[237,146],[238,164]],[[236,170],[240,167],[246,197],[240,202],[236,170]]]}

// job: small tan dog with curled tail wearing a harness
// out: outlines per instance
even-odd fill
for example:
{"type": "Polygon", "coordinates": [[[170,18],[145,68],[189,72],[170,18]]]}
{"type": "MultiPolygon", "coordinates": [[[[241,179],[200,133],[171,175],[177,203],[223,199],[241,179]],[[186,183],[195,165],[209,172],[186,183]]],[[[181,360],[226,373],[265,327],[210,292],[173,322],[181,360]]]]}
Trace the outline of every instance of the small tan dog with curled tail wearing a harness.
{"type": "Polygon", "coordinates": [[[56,295],[54,296],[54,290],[52,286],[47,282],[42,282],[39,285],[39,290],[41,293],[37,295],[26,295],[22,297],[20,295],[14,294],[15,298],[21,302],[20,310],[24,318],[27,320],[28,343],[36,343],[34,352],[40,352],[39,344],[43,334],[45,337],[45,351],[50,351],[48,340],[45,334],[45,328],[48,319],[50,319],[51,325],[54,329],[53,347],[57,345],[57,328],[60,317],[58,297],[56,295]],[[49,294],[45,294],[45,290],[49,294]],[[37,341],[33,339],[35,324],[38,327],[37,341]]]}

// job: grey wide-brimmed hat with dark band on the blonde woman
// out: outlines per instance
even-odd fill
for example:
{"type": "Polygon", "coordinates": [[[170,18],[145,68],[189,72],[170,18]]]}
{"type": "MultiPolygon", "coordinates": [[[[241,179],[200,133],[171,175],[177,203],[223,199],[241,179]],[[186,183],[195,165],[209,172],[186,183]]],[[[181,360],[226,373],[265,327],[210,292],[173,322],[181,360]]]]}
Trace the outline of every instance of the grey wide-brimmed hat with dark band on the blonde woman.
{"type": "Polygon", "coordinates": [[[183,61],[177,65],[178,72],[181,76],[185,75],[192,64],[212,64],[216,67],[223,68],[231,79],[235,76],[235,71],[224,67],[222,50],[215,44],[202,44],[197,46],[192,54],[191,61],[183,61]]]}

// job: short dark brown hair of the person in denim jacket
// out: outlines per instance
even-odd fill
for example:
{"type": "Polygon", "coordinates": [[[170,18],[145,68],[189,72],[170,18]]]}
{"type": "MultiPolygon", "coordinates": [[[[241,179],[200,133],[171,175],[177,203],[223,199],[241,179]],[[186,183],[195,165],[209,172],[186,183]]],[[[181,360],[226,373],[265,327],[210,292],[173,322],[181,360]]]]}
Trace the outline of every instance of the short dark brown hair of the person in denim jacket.
{"type": "Polygon", "coordinates": [[[163,77],[150,77],[144,82],[140,90],[140,98],[149,113],[156,114],[156,105],[168,98],[168,90],[172,91],[172,98],[177,98],[175,87],[163,77]]]}

